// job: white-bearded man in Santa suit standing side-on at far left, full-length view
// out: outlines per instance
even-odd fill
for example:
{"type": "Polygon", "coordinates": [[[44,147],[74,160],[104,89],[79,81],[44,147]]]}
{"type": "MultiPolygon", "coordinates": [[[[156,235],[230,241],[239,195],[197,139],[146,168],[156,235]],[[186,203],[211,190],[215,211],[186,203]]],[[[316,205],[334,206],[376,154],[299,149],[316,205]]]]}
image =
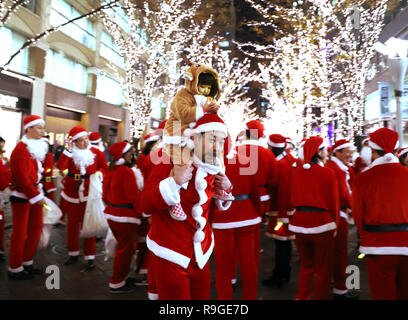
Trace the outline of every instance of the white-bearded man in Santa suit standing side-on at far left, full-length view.
{"type": "Polygon", "coordinates": [[[23,120],[25,135],[16,145],[10,157],[11,208],[13,232],[9,245],[10,279],[26,280],[41,274],[33,266],[33,259],[43,225],[45,204],[41,178],[48,145],[44,136],[44,120],[36,115],[23,120]]]}

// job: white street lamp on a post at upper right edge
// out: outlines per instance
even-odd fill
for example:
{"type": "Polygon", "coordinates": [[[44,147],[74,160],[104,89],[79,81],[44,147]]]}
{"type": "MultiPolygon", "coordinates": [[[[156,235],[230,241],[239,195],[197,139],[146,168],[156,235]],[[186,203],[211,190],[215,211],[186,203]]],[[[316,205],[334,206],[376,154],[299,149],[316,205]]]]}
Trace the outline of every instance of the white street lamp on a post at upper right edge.
{"type": "Polygon", "coordinates": [[[408,40],[390,38],[384,44],[376,42],[374,49],[379,53],[388,57],[388,66],[391,72],[392,82],[394,84],[395,98],[397,100],[397,132],[399,135],[399,143],[403,144],[403,129],[402,129],[402,111],[401,98],[404,89],[404,78],[408,67],[408,40]]]}

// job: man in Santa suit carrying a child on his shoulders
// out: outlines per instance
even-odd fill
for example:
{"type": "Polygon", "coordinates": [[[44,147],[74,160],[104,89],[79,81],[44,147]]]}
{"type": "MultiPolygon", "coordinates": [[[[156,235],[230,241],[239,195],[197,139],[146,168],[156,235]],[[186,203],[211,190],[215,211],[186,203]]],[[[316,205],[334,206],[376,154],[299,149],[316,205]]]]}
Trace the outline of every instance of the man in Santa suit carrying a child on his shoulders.
{"type": "MultiPolygon", "coordinates": [[[[143,212],[152,215],[147,246],[153,253],[158,296],[163,300],[210,299],[208,260],[214,237],[209,211],[215,188],[226,192],[231,189],[220,167],[210,164],[222,156],[227,137],[225,123],[216,114],[205,114],[193,130],[193,163],[175,166],[167,156],[166,161],[153,167],[142,193],[143,212]],[[190,183],[184,189],[186,182],[190,183]],[[177,203],[187,214],[184,221],[174,221],[168,214],[169,207],[177,203]]],[[[223,208],[228,208],[227,203],[223,208]]]]}

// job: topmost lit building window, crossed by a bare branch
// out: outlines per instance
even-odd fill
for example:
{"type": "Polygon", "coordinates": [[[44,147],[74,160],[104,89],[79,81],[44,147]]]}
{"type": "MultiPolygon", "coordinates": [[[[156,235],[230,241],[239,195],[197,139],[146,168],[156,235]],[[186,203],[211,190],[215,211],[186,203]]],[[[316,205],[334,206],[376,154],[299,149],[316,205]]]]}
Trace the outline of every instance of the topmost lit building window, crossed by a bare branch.
{"type": "MultiPolygon", "coordinates": [[[[80,15],[81,13],[64,0],[52,0],[51,2],[50,23],[53,26],[58,26],[80,15]]],[[[89,19],[82,18],[76,20],[60,30],[88,48],[95,50],[95,30],[93,23],[89,19]]]]}

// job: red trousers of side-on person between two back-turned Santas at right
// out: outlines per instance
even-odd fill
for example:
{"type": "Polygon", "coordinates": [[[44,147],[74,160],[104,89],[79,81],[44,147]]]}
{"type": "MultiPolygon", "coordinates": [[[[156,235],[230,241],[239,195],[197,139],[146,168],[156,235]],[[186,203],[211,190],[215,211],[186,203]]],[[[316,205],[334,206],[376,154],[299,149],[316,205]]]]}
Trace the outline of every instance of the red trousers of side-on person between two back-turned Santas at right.
{"type": "Polygon", "coordinates": [[[340,217],[337,235],[334,238],[334,293],[344,294],[346,287],[346,268],[348,265],[348,223],[340,217]]]}

